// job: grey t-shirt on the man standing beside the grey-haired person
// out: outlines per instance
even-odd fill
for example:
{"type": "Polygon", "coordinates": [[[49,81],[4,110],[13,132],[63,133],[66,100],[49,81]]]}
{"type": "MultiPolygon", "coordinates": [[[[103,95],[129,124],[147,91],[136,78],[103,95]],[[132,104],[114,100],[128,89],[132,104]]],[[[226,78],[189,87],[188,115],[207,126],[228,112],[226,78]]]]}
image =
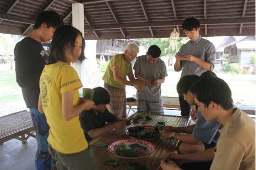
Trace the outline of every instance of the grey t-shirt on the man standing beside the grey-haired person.
{"type": "MultiPolygon", "coordinates": [[[[153,64],[150,64],[146,60],[146,55],[139,56],[134,64],[133,69],[139,69],[140,75],[153,82],[156,79],[160,79],[168,76],[166,66],[163,60],[160,58],[153,64]]],[[[161,84],[157,87],[151,88],[150,86],[145,86],[143,91],[137,91],[137,99],[145,101],[161,101],[161,84]]]]}

